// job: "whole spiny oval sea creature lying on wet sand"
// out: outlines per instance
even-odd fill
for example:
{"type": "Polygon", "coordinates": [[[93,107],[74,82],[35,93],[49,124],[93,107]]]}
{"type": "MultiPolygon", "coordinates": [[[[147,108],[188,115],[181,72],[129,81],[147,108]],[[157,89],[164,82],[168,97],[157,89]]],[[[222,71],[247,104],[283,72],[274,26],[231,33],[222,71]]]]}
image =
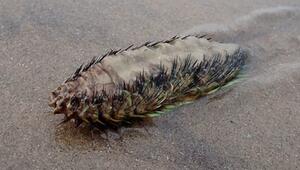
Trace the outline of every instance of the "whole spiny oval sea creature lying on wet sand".
{"type": "Polygon", "coordinates": [[[205,96],[236,77],[247,53],[203,37],[175,36],[94,57],[50,94],[49,105],[64,122],[105,130],[205,96]]]}

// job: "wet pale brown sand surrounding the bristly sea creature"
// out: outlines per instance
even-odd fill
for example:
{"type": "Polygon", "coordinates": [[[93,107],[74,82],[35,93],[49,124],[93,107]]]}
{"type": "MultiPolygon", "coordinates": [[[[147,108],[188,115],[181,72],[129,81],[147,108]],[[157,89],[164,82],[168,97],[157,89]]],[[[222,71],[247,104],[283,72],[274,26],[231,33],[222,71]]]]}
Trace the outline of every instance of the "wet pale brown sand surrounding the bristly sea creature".
{"type": "Polygon", "coordinates": [[[1,0],[0,169],[299,169],[299,5],[1,0]],[[246,80],[155,119],[150,134],[124,130],[123,141],[56,128],[62,117],[50,114],[47,93],[79,64],[109,48],[183,32],[249,48],[246,80]]]}

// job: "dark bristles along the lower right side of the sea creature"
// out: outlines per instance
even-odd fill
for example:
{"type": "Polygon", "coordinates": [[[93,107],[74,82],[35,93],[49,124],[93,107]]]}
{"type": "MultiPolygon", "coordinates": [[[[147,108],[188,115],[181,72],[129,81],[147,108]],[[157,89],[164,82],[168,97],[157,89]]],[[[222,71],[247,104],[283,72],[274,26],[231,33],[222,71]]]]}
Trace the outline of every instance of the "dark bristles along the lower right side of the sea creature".
{"type": "MultiPolygon", "coordinates": [[[[220,60],[218,55],[210,60],[203,60],[200,63],[192,61],[191,57],[188,56],[182,62],[174,60],[172,71],[169,74],[162,64],[159,66],[158,73],[152,73],[149,76],[140,73],[136,77],[135,82],[132,84],[123,82],[118,86],[119,89],[113,95],[109,96],[110,99],[108,100],[111,101],[111,104],[108,105],[112,108],[109,119],[113,120],[112,122],[114,122],[114,124],[117,122],[117,124],[122,124],[122,119],[125,117],[127,117],[126,121],[130,122],[134,121],[134,119],[130,119],[130,117],[153,116],[152,111],[159,111],[166,104],[184,100],[182,97],[196,95],[192,94],[190,89],[201,88],[203,85],[201,83],[201,77],[208,76],[209,79],[206,80],[206,85],[204,84],[204,87],[202,86],[202,92],[207,94],[209,91],[224,85],[227,82],[226,79],[231,78],[231,74],[240,69],[244,60],[245,54],[241,51],[238,51],[233,56],[227,56],[227,59],[224,62],[220,60]],[[179,66],[178,63],[180,63],[179,66]],[[173,87],[177,86],[177,92],[180,92],[181,94],[174,94],[176,91],[172,91],[174,89],[171,89],[169,84],[173,87]],[[126,97],[124,96],[124,93],[122,93],[124,91],[127,92],[128,96],[126,97],[129,98],[132,98],[133,94],[141,96],[142,100],[133,101],[133,103],[139,103],[136,107],[141,107],[141,105],[146,107],[144,109],[136,110],[136,112],[131,114],[126,113],[125,110],[130,110],[133,106],[126,105],[127,100],[125,100],[126,97]],[[170,99],[173,101],[170,102],[170,99]],[[120,115],[121,109],[122,115],[120,115]],[[151,112],[151,114],[148,112],[151,112]]],[[[103,95],[105,94],[96,95],[94,101],[97,101],[96,103],[103,103],[103,95]]],[[[193,96],[189,97],[193,98],[193,96]]],[[[156,114],[158,114],[158,112],[156,114]]]]}

